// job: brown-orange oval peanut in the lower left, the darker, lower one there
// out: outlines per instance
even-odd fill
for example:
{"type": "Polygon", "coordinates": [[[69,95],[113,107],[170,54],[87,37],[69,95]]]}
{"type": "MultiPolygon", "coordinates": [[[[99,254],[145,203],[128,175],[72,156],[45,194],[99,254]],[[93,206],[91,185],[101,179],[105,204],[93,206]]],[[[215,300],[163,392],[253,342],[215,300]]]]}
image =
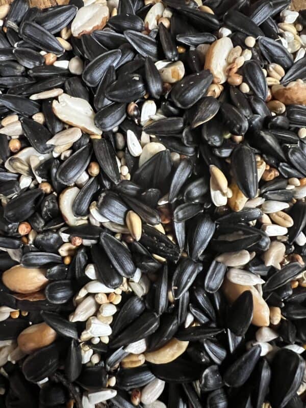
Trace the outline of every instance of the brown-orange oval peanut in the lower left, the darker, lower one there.
{"type": "Polygon", "coordinates": [[[46,323],[33,324],[21,331],[17,344],[21,351],[30,354],[53,343],[56,337],[56,331],[46,323]]]}

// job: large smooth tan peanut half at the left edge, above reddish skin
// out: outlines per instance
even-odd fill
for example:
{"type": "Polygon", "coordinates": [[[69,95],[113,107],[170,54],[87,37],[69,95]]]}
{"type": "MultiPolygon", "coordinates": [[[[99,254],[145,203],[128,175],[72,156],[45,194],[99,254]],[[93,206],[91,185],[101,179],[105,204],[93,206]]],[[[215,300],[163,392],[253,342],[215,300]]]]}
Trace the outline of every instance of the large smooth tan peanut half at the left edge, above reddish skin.
{"type": "Polygon", "coordinates": [[[32,293],[43,289],[49,281],[45,269],[15,265],[3,273],[2,282],[13,292],[32,293]]]}

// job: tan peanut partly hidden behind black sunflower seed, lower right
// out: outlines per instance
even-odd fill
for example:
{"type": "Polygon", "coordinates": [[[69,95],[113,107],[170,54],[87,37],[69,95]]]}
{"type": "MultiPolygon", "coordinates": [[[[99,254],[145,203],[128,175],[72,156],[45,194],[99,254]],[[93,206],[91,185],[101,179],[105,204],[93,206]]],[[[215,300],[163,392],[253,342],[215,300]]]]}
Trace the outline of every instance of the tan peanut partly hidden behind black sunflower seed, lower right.
{"type": "Polygon", "coordinates": [[[233,303],[243,292],[247,290],[251,291],[253,296],[252,324],[259,327],[269,326],[270,324],[269,307],[255,287],[249,285],[234,284],[225,278],[223,281],[222,289],[227,300],[230,301],[231,303],[233,303]]]}

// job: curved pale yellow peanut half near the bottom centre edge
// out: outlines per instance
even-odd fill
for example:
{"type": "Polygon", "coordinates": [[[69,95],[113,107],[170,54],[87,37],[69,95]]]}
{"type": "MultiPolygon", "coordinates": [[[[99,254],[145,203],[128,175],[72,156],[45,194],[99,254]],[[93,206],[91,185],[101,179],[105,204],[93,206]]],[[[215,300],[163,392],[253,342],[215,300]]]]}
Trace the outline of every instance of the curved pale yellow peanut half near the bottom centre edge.
{"type": "Polygon", "coordinates": [[[188,344],[188,341],[173,338],[158,350],[144,353],[145,360],[153,364],[170,363],[185,352],[188,344]]]}

